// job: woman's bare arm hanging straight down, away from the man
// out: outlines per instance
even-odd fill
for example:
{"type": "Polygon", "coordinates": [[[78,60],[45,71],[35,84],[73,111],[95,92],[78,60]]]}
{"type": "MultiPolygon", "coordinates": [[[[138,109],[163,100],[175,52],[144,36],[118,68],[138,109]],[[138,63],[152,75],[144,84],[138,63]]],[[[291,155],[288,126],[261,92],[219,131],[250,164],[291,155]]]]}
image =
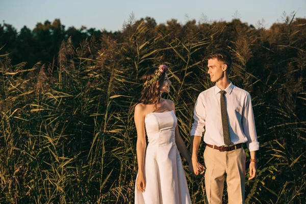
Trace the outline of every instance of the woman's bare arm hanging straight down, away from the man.
{"type": "Polygon", "coordinates": [[[138,162],[138,179],[136,181],[137,188],[144,192],[145,181],[143,176],[143,164],[144,164],[144,154],[145,154],[145,129],[144,129],[144,114],[143,114],[143,105],[138,104],[135,107],[134,121],[137,131],[137,143],[136,143],[136,154],[138,162]]]}

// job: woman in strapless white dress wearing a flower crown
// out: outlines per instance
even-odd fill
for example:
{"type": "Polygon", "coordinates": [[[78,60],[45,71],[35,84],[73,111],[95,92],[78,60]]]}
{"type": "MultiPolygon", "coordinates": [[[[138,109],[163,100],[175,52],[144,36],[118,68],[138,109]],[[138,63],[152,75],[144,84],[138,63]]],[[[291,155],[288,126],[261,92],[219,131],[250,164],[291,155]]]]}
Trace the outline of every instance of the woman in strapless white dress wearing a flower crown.
{"type": "MultiPolygon", "coordinates": [[[[135,106],[138,161],[135,203],[191,203],[177,149],[187,162],[191,157],[177,127],[174,103],[161,97],[162,93],[170,92],[166,70],[167,66],[161,65],[146,71],[142,77],[144,88],[135,106]]],[[[199,164],[198,170],[202,171],[203,166],[199,164]]]]}

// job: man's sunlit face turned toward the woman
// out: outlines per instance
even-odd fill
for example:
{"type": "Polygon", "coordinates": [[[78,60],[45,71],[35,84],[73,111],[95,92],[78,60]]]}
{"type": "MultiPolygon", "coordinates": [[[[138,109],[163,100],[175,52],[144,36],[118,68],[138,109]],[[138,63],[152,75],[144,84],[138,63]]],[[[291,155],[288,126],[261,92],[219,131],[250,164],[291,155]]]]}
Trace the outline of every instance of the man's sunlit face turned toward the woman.
{"type": "Polygon", "coordinates": [[[224,77],[226,65],[217,58],[208,60],[208,71],[212,82],[218,82],[224,77]]]}

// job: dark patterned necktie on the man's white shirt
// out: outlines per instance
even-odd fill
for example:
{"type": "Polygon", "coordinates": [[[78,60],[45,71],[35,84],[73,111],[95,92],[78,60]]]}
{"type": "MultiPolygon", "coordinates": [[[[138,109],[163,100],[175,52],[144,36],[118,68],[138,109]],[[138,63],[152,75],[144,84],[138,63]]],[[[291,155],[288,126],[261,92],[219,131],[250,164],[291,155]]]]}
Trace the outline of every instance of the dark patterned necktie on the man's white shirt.
{"type": "Polygon", "coordinates": [[[222,129],[223,129],[223,138],[224,144],[230,146],[232,144],[232,140],[230,137],[230,130],[228,130],[228,120],[226,115],[226,107],[225,107],[225,91],[220,91],[220,105],[221,105],[221,118],[222,118],[222,129]]]}

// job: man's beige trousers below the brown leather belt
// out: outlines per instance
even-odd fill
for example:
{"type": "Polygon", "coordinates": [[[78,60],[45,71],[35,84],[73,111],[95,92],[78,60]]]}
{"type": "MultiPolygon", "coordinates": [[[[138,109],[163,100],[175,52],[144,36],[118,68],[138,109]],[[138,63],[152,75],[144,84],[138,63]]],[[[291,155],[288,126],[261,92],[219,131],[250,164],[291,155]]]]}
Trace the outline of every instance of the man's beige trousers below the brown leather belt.
{"type": "Polygon", "coordinates": [[[222,203],[224,177],[226,175],[229,204],[244,203],[245,151],[243,148],[220,152],[206,147],[206,201],[209,204],[222,203]]]}

